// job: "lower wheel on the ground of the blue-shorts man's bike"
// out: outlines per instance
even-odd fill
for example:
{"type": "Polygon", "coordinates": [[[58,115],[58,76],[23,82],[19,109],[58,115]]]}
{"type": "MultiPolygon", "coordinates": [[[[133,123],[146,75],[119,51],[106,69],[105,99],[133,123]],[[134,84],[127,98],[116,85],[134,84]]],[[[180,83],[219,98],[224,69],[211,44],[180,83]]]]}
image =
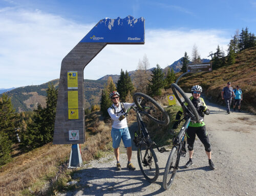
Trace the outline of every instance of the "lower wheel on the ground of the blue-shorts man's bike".
{"type": "Polygon", "coordinates": [[[152,147],[139,145],[137,150],[140,170],[148,182],[156,182],[159,176],[159,166],[157,156],[152,147]]]}

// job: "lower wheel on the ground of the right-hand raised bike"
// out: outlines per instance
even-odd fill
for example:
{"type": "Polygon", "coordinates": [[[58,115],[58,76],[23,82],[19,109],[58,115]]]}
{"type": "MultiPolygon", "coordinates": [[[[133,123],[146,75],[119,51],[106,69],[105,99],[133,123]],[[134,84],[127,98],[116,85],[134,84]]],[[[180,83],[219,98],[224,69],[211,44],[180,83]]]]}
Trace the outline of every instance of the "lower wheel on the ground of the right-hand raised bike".
{"type": "Polygon", "coordinates": [[[170,151],[170,155],[168,157],[164,175],[163,175],[163,188],[167,190],[172,186],[174,178],[176,176],[176,171],[179,167],[179,148],[178,146],[174,146],[172,151],[170,151]]]}

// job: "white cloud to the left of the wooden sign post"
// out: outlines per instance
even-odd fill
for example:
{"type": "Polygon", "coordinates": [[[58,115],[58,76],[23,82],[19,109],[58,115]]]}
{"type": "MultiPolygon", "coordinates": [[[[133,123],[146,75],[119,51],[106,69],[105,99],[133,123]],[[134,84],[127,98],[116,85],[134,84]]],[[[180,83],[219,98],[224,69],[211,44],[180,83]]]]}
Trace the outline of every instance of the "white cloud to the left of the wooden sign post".
{"type": "Polygon", "coordinates": [[[0,12],[0,86],[41,84],[59,77],[63,57],[93,25],[40,10],[0,12]]]}

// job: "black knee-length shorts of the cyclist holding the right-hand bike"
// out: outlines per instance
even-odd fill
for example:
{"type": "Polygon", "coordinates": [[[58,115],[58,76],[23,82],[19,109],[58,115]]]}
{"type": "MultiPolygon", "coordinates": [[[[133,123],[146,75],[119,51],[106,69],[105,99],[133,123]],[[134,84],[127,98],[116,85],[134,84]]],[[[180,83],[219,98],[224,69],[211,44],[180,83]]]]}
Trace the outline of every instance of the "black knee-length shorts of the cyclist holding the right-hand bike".
{"type": "Polygon", "coordinates": [[[206,132],[206,127],[205,126],[199,126],[199,127],[192,127],[188,126],[187,127],[187,144],[188,144],[188,150],[193,150],[194,149],[194,142],[196,139],[196,134],[197,137],[200,139],[200,141],[203,143],[205,151],[210,152],[210,141],[208,134],[206,132]]]}

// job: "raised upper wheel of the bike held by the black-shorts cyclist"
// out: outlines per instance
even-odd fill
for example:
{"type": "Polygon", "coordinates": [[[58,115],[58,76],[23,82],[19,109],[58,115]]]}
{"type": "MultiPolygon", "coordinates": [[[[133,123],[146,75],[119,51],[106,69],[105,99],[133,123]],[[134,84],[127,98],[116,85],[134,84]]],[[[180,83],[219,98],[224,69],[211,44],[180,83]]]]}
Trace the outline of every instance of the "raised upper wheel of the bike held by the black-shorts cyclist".
{"type": "MultiPolygon", "coordinates": [[[[178,84],[176,84],[176,83],[172,83],[170,88],[172,88],[173,93],[174,93],[176,99],[180,102],[181,105],[183,105],[184,102],[186,102],[188,104],[187,108],[188,108],[188,110],[190,112],[188,115],[190,115],[191,118],[195,118],[197,121],[199,121],[199,115],[198,115],[196,107],[191,102],[191,100],[186,96],[186,94],[180,88],[180,86],[178,86],[178,84]]],[[[183,108],[183,113],[185,114],[184,108],[183,108]]]]}

